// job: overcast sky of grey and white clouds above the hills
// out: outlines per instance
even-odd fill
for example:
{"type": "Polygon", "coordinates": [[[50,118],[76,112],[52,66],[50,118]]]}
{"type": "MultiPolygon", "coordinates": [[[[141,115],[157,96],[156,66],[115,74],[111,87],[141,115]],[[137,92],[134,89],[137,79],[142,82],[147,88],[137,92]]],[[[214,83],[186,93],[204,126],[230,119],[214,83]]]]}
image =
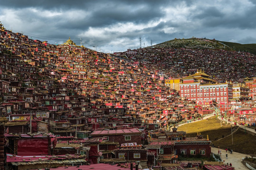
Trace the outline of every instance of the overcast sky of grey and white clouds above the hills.
{"type": "Polygon", "coordinates": [[[256,43],[256,0],[1,0],[0,21],[32,39],[113,52],[174,38],[256,43]],[[94,47],[93,47],[94,46],[94,47]]]}

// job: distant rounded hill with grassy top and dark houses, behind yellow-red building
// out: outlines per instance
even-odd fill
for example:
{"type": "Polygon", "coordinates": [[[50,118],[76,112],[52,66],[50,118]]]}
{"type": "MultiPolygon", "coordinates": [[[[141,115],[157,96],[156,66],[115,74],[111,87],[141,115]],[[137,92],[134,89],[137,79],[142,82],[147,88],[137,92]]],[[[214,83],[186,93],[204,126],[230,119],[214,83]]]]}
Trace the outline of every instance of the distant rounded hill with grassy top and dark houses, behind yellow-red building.
{"type": "Polygon", "coordinates": [[[222,42],[204,38],[174,39],[123,54],[165,78],[188,76],[197,69],[220,83],[256,76],[254,54],[234,51],[222,42]]]}

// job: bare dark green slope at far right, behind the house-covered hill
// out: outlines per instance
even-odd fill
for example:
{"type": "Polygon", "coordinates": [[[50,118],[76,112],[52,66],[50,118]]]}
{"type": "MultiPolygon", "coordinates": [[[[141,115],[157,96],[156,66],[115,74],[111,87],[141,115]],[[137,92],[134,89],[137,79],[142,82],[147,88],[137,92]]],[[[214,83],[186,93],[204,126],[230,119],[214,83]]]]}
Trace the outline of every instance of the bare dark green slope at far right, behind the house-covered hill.
{"type": "Polygon", "coordinates": [[[219,41],[219,42],[229,46],[231,49],[233,48],[233,50],[235,51],[246,51],[252,54],[256,54],[256,43],[240,44],[236,42],[223,42],[223,41],[219,41]]]}

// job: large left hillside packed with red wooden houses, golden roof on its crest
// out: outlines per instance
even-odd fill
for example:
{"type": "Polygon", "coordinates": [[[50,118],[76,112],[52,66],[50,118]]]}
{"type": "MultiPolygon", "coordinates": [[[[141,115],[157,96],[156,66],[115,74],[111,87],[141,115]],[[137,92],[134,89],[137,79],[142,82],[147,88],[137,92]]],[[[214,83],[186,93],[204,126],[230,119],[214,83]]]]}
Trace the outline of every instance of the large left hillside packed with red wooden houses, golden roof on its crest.
{"type": "Polygon", "coordinates": [[[0,82],[7,84],[6,89],[0,89],[0,102],[36,102],[20,106],[14,114],[45,106],[83,116],[102,114],[100,108],[106,107],[136,114],[178,100],[178,93],[152,77],[153,69],[138,66],[131,59],[77,46],[71,39],[54,45],[0,28],[0,60],[0,82]],[[49,97],[57,102],[43,100],[49,97]],[[57,105],[53,108],[53,104],[57,105]]]}

